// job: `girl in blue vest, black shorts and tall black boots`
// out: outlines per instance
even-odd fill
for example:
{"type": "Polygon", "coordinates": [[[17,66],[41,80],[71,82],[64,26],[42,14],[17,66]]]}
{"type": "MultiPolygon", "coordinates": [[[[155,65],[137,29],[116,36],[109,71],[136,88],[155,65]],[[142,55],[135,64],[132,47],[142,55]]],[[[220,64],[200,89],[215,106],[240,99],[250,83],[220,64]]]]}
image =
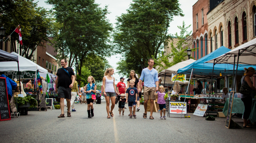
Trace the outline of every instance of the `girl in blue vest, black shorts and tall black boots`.
{"type": "Polygon", "coordinates": [[[85,93],[86,93],[86,101],[87,101],[87,112],[88,112],[88,118],[92,118],[94,116],[93,113],[93,101],[94,98],[96,98],[96,85],[94,84],[95,80],[93,76],[89,76],[87,81],[89,82],[85,86],[85,93]]]}

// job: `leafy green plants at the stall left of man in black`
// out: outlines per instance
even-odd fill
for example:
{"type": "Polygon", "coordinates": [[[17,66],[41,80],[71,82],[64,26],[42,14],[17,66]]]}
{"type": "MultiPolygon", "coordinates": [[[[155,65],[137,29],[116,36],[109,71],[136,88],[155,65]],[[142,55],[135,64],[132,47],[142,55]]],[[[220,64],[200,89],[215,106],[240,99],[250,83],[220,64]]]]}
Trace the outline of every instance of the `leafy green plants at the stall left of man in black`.
{"type": "MultiPolygon", "coordinates": [[[[16,97],[14,97],[14,101],[15,101],[15,104],[16,104],[16,97]]],[[[24,105],[24,107],[25,107],[25,105],[28,106],[28,104],[30,104],[30,106],[29,106],[30,108],[33,108],[33,107],[36,107],[37,101],[36,101],[36,99],[33,98],[32,96],[26,96],[26,97],[24,97],[24,98],[22,98],[22,97],[17,97],[17,104],[18,104],[18,107],[19,107],[19,108],[21,108],[22,105],[24,105]]],[[[27,106],[26,106],[26,107],[27,107],[27,106]]]]}

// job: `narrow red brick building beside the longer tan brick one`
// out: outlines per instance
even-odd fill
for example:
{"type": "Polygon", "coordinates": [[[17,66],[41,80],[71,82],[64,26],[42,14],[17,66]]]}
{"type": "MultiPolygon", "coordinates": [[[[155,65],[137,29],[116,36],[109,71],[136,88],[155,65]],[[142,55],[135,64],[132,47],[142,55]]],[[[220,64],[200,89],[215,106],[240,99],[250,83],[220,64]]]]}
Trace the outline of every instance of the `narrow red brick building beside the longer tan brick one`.
{"type": "Polygon", "coordinates": [[[198,0],[192,6],[193,15],[193,44],[192,49],[198,48],[192,52],[192,57],[195,60],[206,56],[208,51],[208,21],[207,15],[209,9],[209,0],[198,0]]]}

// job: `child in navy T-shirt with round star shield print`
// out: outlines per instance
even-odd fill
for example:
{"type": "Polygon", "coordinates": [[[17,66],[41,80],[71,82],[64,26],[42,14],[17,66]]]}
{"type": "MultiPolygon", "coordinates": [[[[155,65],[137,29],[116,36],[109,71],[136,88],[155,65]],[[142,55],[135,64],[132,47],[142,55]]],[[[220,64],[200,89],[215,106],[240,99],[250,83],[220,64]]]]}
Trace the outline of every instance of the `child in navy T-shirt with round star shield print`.
{"type": "Polygon", "coordinates": [[[135,109],[136,109],[136,103],[137,103],[137,96],[138,96],[138,90],[134,87],[134,82],[132,79],[130,80],[130,87],[126,90],[126,103],[128,101],[128,107],[130,110],[130,118],[136,118],[135,115],[135,109]],[[133,114],[131,113],[133,107],[133,114]]]}

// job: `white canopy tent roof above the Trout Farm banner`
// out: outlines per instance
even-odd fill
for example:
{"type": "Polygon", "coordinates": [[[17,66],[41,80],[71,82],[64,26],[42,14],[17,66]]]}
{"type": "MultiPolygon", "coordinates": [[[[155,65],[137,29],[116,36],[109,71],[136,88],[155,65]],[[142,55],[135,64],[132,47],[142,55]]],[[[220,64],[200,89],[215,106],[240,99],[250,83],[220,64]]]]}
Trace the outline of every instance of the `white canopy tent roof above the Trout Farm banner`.
{"type": "MultiPolygon", "coordinates": [[[[38,66],[35,62],[26,59],[25,57],[19,56],[16,52],[12,52],[10,54],[17,55],[19,57],[19,71],[37,71],[48,73],[47,69],[44,69],[41,66],[38,66]]],[[[17,62],[1,62],[0,64],[0,72],[4,71],[18,71],[17,62]]]]}

